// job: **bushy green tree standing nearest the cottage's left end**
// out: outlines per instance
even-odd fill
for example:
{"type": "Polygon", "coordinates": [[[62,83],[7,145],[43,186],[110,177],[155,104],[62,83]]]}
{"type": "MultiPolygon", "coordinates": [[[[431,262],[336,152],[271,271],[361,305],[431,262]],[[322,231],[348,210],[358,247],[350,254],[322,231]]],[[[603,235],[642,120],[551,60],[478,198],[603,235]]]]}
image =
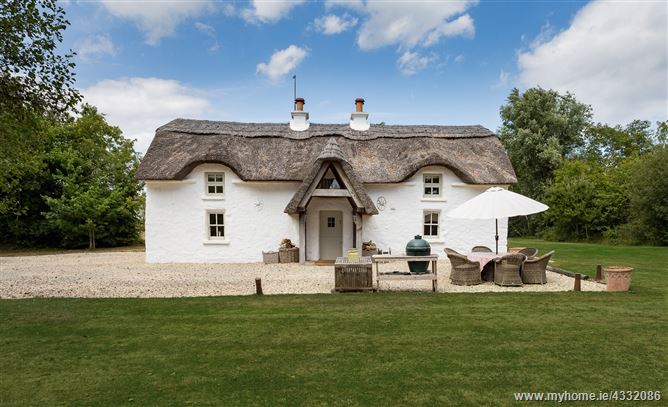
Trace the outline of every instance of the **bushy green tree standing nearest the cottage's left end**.
{"type": "Polygon", "coordinates": [[[64,246],[136,241],[141,230],[142,186],[133,142],[109,126],[92,106],[72,123],[53,129],[46,163],[60,194],[43,196],[43,213],[64,246]]]}

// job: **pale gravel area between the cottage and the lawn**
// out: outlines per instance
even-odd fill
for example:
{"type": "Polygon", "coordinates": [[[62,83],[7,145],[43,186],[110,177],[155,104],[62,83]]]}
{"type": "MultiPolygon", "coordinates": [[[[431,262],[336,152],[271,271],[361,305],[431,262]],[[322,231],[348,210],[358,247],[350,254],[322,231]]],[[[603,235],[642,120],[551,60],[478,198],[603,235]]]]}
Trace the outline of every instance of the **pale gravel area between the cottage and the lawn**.
{"type": "MultiPolygon", "coordinates": [[[[450,284],[450,262],[438,262],[439,292],[569,291],[573,279],[548,272],[545,285],[499,287],[450,284]]],[[[382,271],[407,271],[407,263],[381,265],[382,271]]],[[[314,264],[147,264],[143,252],[74,253],[0,257],[0,298],[31,297],[196,297],[249,295],[255,278],[265,294],[330,293],[334,266],[314,264]]],[[[382,282],[385,290],[431,291],[430,281],[382,282]]],[[[605,285],[582,281],[583,291],[604,291],[605,285]]]]}

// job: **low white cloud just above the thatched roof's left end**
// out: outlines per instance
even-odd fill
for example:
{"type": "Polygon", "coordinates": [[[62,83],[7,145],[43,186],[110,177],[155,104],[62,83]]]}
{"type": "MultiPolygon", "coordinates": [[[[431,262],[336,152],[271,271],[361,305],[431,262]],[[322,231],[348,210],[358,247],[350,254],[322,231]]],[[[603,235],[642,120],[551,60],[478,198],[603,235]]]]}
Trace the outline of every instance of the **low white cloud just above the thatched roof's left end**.
{"type": "Polygon", "coordinates": [[[177,117],[202,117],[210,102],[196,89],[159,78],[107,79],[83,89],[84,100],[96,106],[123,135],[137,139],[135,149],[148,149],[155,129],[177,117]]]}

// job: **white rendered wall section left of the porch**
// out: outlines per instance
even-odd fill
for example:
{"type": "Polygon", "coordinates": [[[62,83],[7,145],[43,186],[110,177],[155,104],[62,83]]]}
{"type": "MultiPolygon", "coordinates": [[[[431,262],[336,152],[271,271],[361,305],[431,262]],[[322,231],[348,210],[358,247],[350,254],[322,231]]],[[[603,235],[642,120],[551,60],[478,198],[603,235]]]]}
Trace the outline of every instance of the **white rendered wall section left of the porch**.
{"type": "MultiPolygon", "coordinates": [[[[243,182],[228,167],[203,164],[183,181],[146,182],[146,261],[262,261],[281,239],[299,241],[299,218],[283,212],[298,182],[243,182]],[[205,172],[225,173],[222,200],[206,195],[205,172]],[[208,239],[207,210],[225,211],[223,242],[208,239]]],[[[344,214],[345,216],[345,214],[344,214]]]]}

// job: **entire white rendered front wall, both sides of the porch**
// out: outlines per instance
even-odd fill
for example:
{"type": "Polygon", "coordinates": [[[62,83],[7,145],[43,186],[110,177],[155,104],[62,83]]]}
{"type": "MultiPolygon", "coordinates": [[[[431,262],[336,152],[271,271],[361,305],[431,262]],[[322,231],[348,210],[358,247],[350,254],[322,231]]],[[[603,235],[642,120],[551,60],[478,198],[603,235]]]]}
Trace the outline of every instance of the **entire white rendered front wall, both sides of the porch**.
{"type": "MultiPolygon", "coordinates": [[[[183,181],[146,183],[146,260],[151,263],[235,263],[262,261],[262,251],[277,250],[283,238],[299,245],[299,218],[283,212],[299,187],[298,182],[243,182],[219,164],[196,167],[183,181]],[[225,173],[223,200],[205,193],[205,172],[225,173]],[[259,203],[261,205],[256,205],[259,203]],[[225,211],[224,242],[208,239],[207,210],[225,211]]],[[[440,236],[427,239],[432,253],[444,255],[451,247],[469,251],[475,245],[494,249],[494,220],[466,220],[443,214],[489,186],[463,183],[445,167],[426,167],[401,184],[368,184],[376,202],[387,204],[378,215],[364,216],[364,241],[383,250],[403,253],[406,243],[422,234],[423,210],[440,210],[440,236]],[[423,174],[442,174],[441,198],[423,197],[423,174]]],[[[380,208],[379,208],[380,209],[380,208]]],[[[320,211],[343,212],[343,253],[352,247],[352,207],[343,198],[313,198],[307,208],[306,258],[320,257],[320,211]]],[[[499,219],[499,251],[506,251],[507,219],[499,219]]],[[[303,248],[301,248],[303,250],[303,248]]]]}

